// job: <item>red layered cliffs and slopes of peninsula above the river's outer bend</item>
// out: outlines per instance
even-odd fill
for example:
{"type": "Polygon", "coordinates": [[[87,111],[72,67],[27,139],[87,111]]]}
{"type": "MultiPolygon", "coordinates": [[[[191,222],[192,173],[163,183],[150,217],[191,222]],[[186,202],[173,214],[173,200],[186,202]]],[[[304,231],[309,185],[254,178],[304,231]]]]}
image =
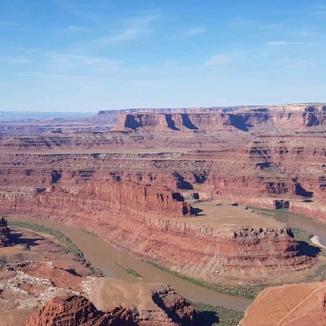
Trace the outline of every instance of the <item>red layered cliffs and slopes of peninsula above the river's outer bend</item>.
{"type": "Polygon", "coordinates": [[[315,263],[300,255],[286,226],[221,231],[193,224],[191,218],[170,221],[192,212],[179,194],[173,194],[177,193],[124,182],[90,183],[77,194],[53,186],[39,194],[2,193],[0,209],[86,228],[137,257],[192,277],[232,278],[239,270],[254,278],[270,277],[315,263]]]}

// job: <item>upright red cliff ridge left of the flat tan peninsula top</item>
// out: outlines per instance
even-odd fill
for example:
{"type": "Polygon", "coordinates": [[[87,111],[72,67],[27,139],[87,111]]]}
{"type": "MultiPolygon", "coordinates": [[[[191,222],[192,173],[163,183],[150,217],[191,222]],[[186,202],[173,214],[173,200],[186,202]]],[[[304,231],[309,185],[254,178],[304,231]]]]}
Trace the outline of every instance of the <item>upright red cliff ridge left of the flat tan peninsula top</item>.
{"type": "Polygon", "coordinates": [[[77,205],[79,212],[93,209],[127,215],[140,221],[151,215],[171,217],[193,213],[192,206],[179,193],[165,187],[144,186],[132,182],[88,183],[77,194],[69,193],[59,185],[52,185],[49,191],[41,193],[2,193],[0,206],[8,211],[9,207],[5,207],[9,204],[6,203],[7,200],[11,202],[13,210],[21,206],[31,212],[46,213],[52,207],[53,213],[57,211],[60,215],[57,206],[60,201],[62,209],[69,210],[72,205],[77,205]],[[142,209],[139,209],[140,206],[142,209]]]}

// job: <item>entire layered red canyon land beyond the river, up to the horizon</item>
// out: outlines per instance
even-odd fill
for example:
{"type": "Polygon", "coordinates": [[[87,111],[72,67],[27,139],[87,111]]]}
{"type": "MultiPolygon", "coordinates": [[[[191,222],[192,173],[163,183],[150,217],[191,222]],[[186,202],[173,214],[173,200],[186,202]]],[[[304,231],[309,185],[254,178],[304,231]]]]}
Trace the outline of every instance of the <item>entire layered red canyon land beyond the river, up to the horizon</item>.
{"type": "Polygon", "coordinates": [[[0,209],[201,280],[299,281],[318,258],[243,205],[326,222],[325,131],[324,103],[0,121],[0,209]]]}

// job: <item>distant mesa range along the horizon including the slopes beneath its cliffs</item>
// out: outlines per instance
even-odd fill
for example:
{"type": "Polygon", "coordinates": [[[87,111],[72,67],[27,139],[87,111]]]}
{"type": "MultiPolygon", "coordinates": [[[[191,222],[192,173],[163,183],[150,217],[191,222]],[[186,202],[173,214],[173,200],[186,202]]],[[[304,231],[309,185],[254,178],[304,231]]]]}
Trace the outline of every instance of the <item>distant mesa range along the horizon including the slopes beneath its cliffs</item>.
{"type": "Polygon", "coordinates": [[[3,152],[65,151],[77,147],[107,149],[118,146],[221,148],[226,140],[229,142],[234,139],[234,135],[242,141],[253,140],[250,132],[324,132],[324,106],[311,103],[101,111],[95,117],[84,118],[82,126],[81,121],[71,121],[71,125],[66,121],[57,124],[56,128],[51,126],[50,121],[41,128],[0,125],[0,132],[7,132],[0,138],[0,148],[3,152]],[[111,128],[107,124],[115,126],[111,128]],[[27,131],[19,132],[19,129],[27,131]],[[34,129],[38,130],[38,137],[34,137],[34,129]],[[12,134],[11,130],[14,130],[12,134]]]}

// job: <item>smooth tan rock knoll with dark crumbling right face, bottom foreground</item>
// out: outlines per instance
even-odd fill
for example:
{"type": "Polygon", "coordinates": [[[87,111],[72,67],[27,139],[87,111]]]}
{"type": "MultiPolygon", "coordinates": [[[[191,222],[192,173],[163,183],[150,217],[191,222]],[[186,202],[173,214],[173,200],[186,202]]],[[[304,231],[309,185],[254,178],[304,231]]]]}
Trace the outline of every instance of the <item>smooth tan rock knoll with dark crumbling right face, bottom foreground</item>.
{"type": "Polygon", "coordinates": [[[121,304],[132,310],[133,321],[139,326],[188,326],[198,317],[197,309],[170,285],[92,278],[84,288],[97,309],[110,310],[121,304]]]}

